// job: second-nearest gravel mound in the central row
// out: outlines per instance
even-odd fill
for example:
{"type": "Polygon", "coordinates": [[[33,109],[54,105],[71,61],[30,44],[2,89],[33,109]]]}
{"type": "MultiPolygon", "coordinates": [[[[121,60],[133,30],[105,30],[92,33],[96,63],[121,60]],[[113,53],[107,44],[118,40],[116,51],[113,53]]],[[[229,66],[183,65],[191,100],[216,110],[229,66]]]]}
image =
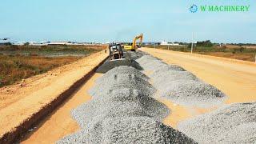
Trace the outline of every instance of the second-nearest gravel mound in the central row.
{"type": "Polygon", "coordinates": [[[138,90],[113,90],[107,96],[93,98],[72,111],[82,128],[94,126],[104,118],[147,116],[161,121],[170,111],[161,102],[139,94],[138,90]]]}

